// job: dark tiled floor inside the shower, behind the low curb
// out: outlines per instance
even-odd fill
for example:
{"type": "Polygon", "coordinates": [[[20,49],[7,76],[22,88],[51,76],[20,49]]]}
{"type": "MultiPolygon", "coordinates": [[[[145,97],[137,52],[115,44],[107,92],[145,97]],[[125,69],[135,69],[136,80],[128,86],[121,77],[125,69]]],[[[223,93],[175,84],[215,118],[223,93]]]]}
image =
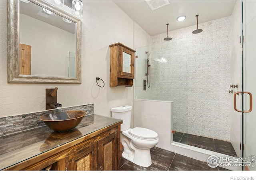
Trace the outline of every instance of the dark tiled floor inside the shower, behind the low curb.
{"type": "Polygon", "coordinates": [[[236,156],[236,152],[230,142],[222,141],[213,138],[206,138],[202,136],[195,136],[192,134],[186,134],[182,132],[175,132],[173,134],[173,141],[180,142],[182,144],[188,144],[198,148],[219,152],[222,154],[236,156]]]}

